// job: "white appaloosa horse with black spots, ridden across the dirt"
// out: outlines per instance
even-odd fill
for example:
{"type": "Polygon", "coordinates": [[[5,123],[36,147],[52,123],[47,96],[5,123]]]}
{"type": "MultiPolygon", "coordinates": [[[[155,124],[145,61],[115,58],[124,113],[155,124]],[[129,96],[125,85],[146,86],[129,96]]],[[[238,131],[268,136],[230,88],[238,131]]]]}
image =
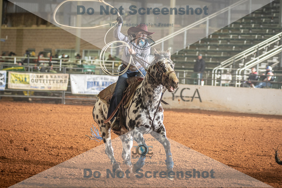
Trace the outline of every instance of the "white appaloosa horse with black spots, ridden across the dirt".
{"type": "MultiPolygon", "coordinates": [[[[166,88],[169,92],[174,92],[178,86],[178,79],[174,71],[174,63],[170,59],[170,52],[157,52],[155,50],[155,59],[148,72],[137,88],[131,101],[130,107],[125,109],[125,128],[128,132],[121,132],[123,143],[122,157],[124,164],[131,166],[130,153],[135,140],[139,145],[146,145],[143,134],[150,133],[164,147],[166,152],[167,170],[173,170],[173,159],[170,150],[170,142],[166,138],[166,131],[163,125],[163,109],[159,105],[162,89],[166,88]]],[[[108,112],[108,105],[100,99],[93,108],[93,118],[98,124],[103,141],[106,147],[113,170],[120,169],[119,164],[114,158],[114,152],[111,144],[111,129],[109,123],[104,123],[108,112]]],[[[132,170],[135,172],[144,165],[145,157],[141,156],[132,170]]]]}

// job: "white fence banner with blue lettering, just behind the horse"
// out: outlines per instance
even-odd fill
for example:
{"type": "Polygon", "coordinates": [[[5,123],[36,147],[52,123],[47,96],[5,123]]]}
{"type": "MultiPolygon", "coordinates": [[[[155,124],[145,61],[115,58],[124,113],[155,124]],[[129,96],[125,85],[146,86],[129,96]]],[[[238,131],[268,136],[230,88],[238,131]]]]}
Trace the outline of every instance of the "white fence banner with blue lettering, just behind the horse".
{"type": "Polygon", "coordinates": [[[117,80],[117,76],[109,75],[71,75],[71,93],[99,94],[117,80]]]}

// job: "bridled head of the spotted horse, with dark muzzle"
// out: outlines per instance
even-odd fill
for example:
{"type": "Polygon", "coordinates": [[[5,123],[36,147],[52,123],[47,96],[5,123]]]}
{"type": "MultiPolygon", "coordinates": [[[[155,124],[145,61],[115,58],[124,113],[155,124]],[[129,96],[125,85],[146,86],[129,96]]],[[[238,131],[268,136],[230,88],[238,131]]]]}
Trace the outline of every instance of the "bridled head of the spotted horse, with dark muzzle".
{"type": "Polygon", "coordinates": [[[174,71],[174,62],[170,59],[170,51],[158,52],[156,49],[155,60],[150,66],[149,72],[155,80],[163,85],[169,92],[174,92],[178,86],[178,78],[174,71]]]}

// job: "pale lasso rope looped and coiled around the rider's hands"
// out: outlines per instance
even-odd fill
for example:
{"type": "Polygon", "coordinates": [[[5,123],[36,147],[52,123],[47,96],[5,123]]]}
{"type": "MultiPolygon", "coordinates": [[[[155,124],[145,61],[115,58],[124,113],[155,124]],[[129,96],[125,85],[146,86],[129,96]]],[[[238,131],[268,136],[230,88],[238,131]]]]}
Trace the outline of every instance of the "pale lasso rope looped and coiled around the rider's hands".
{"type": "MultiPolygon", "coordinates": [[[[97,27],[103,27],[103,26],[106,26],[106,25],[109,25],[109,24],[118,23],[118,21],[114,21],[114,22],[111,22],[111,23],[107,23],[107,24],[104,24],[104,25],[98,25],[98,26],[94,26],[94,27],[74,27],[74,26],[70,26],[70,25],[61,24],[61,23],[59,23],[59,22],[57,21],[57,19],[56,19],[56,13],[57,13],[57,11],[59,10],[59,8],[60,8],[65,2],[70,2],[70,1],[79,1],[79,0],[65,0],[65,1],[61,2],[60,4],[58,4],[58,6],[55,8],[54,13],[53,13],[53,20],[54,20],[54,22],[55,22],[56,24],[61,25],[61,26],[64,26],[64,27],[75,28],[75,29],[94,29],[94,28],[97,28],[97,27]]],[[[83,1],[96,1],[96,2],[101,2],[101,3],[104,3],[104,4],[106,4],[106,5],[108,5],[108,6],[112,7],[112,8],[115,8],[115,7],[113,7],[112,5],[110,5],[109,3],[105,2],[104,0],[83,0],[83,1]]],[[[116,9],[116,8],[115,8],[115,9],[116,9]]],[[[117,9],[116,9],[116,10],[117,10],[117,9]]],[[[118,13],[118,17],[121,16],[118,11],[117,11],[117,13],[118,13]]],[[[107,35],[107,33],[108,33],[113,27],[114,27],[114,26],[112,26],[112,27],[106,32],[106,35],[107,35]]],[[[129,67],[130,67],[130,65],[131,65],[132,62],[133,62],[133,64],[135,65],[135,67],[137,68],[136,64],[135,64],[134,61],[133,61],[132,56],[130,56],[129,63],[128,63],[128,65],[126,66],[126,68],[125,68],[122,72],[119,72],[119,73],[111,73],[111,72],[109,72],[109,71],[106,69],[104,57],[105,57],[106,50],[107,50],[108,48],[118,48],[118,47],[121,47],[121,46],[127,46],[128,48],[131,48],[131,47],[129,46],[129,44],[127,44],[126,42],[124,42],[124,41],[122,41],[122,40],[114,40],[114,41],[112,41],[112,42],[106,43],[106,35],[105,35],[105,38],[104,38],[104,41],[105,41],[105,45],[106,45],[106,46],[104,46],[104,48],[101,50],[100,58],[99,58],[99,60],[100,60],[100,66],[101,66],[102,70],[104,71],[104,73],[105,73],[106,75],[111,75],[111,76],[123,75],[123,74],[129,69],[129,67]],[[123,45],[115,46],[115,47],[110,47],[112,44],[118,43],[118,42],[123,43],[123,45]],[[103,62],[103,64],[102,64],[101,61],[103,62]]],[[[137,70],[141,73],[141,75],[143,75],[142,72],[141,72],[138,68],[137,68],[137,70]]],[[[143,76],[144,76],[144,75],[143,75],[143,76]]],[[[144,76],[144,77],[145,77],[145,76],[144,76]]]]}

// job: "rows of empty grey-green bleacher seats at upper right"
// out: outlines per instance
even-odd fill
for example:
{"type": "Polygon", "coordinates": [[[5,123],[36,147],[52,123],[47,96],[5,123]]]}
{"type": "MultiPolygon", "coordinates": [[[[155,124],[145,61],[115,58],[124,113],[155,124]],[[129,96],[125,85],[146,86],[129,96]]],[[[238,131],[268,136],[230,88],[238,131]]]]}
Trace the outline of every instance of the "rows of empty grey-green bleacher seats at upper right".
{"type": "MultiPolygon", "coordinates": [[[[202,54],[206,61],[206,71],[211,71],[231,56],[280,33],[282,28],[279,26],[279,9],[280,1],[275,0],[212,35],[178,51],[172,55],[176,69],[193,70],[197,55],[202,54]]],[[[265,50],[267,49],[263,49],[260,53],[265,50]]],[[[243,64],[239,63],[236,67],[243,65],[244,62],[243,64]]]]}

